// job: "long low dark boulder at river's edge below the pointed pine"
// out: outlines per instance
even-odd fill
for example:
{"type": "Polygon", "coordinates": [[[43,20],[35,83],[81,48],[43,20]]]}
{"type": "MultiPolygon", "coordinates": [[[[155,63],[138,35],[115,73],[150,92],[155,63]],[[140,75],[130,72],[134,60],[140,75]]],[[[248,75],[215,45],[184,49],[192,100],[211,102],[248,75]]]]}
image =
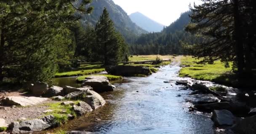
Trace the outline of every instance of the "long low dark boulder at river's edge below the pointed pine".
{"type": "Polygon", "coordinates": [[[120,75],[120,76],[134,76],[134,75],[151,75],[149,67],[141,66],[129,66],[129,65],[120,65],[120,66],[109,66],[106,67],[106,71],[111,75],[120,75]]]}

